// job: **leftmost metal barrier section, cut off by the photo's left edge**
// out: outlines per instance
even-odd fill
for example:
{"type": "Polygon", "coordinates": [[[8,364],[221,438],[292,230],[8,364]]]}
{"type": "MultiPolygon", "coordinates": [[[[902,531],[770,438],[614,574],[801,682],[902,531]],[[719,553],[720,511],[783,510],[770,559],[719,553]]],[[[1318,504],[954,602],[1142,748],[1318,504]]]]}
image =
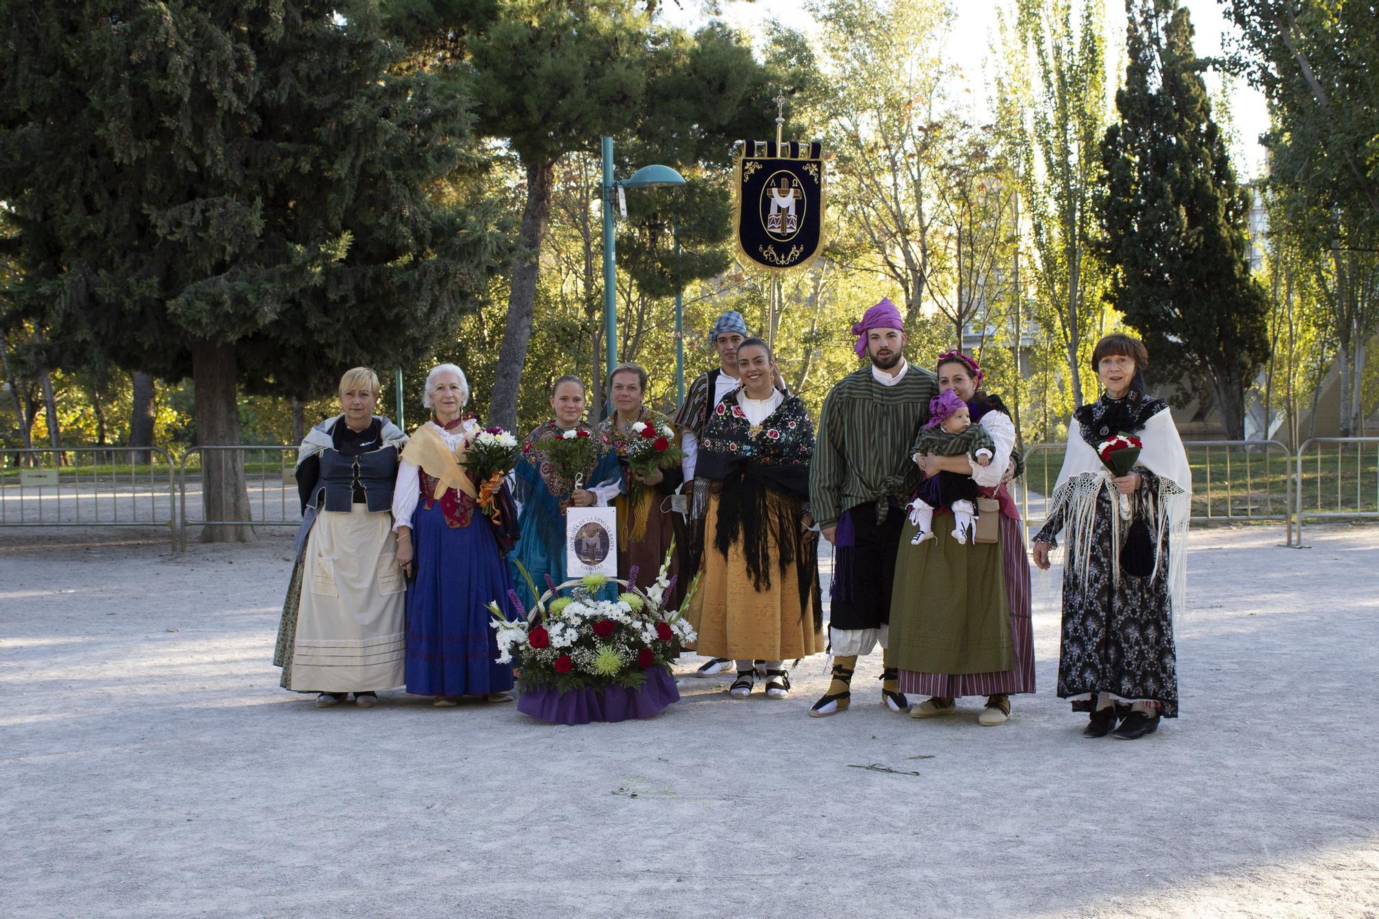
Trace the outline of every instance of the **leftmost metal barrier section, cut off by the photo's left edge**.
{"type": "Polygon", "coordinates": [[[167,527],[177,468],[159,447],[33,447],[0,454],[0,526],[167,527]]]}

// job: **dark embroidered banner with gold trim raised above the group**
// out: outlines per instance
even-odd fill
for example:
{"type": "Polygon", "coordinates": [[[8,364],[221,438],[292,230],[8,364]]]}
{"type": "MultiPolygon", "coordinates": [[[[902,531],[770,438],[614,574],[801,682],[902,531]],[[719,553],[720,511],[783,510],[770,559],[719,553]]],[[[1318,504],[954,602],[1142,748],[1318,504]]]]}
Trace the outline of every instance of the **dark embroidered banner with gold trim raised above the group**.
{"type": "Polygon", "coordinates": [[[743,141],[732,207],[738,253],[772,272],[804,268],[823,250],[822,145],[743,141]]]}

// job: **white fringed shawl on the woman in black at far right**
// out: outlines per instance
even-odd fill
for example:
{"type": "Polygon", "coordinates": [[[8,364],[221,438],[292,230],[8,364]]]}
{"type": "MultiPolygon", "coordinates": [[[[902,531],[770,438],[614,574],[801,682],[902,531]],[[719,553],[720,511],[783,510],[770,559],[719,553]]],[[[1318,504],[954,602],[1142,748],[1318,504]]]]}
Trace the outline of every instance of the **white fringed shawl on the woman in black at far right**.
{"type": "MultiPolygon", "coordinates": [[[[1187,465],[1187,453],[1174,426],[1168,408],[1153,415],[1145,429],[1136,433],[1145,447],[1139,464],[1158,476],[1158,491],[1153,498],[1158,542],[1154,545],[1154,571],[1158,575],[1158,560],[1162,555],[1164,538],[1168,538],[1168,591],[1172,613],[1183,609],[1187,593],[1187,519],[1191,516],[1193,473],[1187,465]]],[[[1080,582],[1087,580],[1087,567],[1092,552],[1092,530],[1096,517],[1096,497],[1106,491],[1111,498],[1111,545],[1121,545],[1120,513],[1116,512],[1116,486],[1111,473],[1102,464],[1096,451],[1083,440],[1077,419],[1067,428],[1067,453],[1058,483],[1049,498],[1049,516],[1058,508],[1063,509],[1065,559],[1063,564],[1073,571],[1080,582]]],[[[1138,498],[1138,495],[1136,495],[1138,498]]],[[[1113,582],[1120,582],[1120,563],[1111,566],[1113,582]]]]}

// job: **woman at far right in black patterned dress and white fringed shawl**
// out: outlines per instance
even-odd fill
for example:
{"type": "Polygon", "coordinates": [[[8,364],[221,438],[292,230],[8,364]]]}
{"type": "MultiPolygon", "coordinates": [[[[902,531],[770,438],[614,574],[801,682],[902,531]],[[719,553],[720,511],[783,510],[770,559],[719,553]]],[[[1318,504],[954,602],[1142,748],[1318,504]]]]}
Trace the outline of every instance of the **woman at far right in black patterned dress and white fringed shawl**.
{"type": "Polygon", "coordinates": [[[1096,342],[1092,368],[1105,392],[1073,413],[1048,522],[1034,537],[1034,564],[1048,569],[1065,535],[1058,694],[1091,713],[1085,737],[1135,740],[1178,718],[1174,614],[1186,586],[1193,483],[1167,403],[1145,395],[1146,367],[1138,338],[1096,342]],[[1124,476],[1099,457],[1117,435],[1143,444],[1124,476]]]}

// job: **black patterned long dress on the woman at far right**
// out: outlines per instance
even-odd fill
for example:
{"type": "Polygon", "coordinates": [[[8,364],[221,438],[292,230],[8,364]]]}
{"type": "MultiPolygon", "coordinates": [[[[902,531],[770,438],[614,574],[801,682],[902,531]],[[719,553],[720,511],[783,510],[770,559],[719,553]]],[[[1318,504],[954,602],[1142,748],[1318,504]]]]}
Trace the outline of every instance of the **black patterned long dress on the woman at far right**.
{"type": "MultiPolygon", "coordinates": [[[[1168,406],[1136,392],[1123,399],[1102,396],[1073,413],[1078,433],[1092,450],[1117,433],[1139,433],[1146,422],[1168,406]]],[[[1164,718],[1178,716],[1178,653],[1174,646],[1172,602],[1169,596],[1169,541],[1160,540],[1160,480],[1149,468],[1136,465],[1143,482],[1132,495],[1132,520],[1114,520],[1118,513],[1109,490],[1096,491],[1091,548],[1085,574],[1070,559],[1063,564],[1063,633],[1058,662],[1058,695],[1073,700],[1073,711],[1091,711],[1089,694],[1109,693],[1127,701],[1154,701],[1164,718]],[[1153,575],[1132,577],[1120,571],[1120,551],[1131,524],[1143,520],[1150,538],[1160,545],[1153,575]]],[[[1087,476],[1089,473],[1080,473],[1087,476]]],[[[1085,491],[1084,491],[1085,494],[1085,491]]],[[[1058,545],[1065,528],[1069,502],[1055,495],[1048,522],[1036,542],[1058,545]]]]}

